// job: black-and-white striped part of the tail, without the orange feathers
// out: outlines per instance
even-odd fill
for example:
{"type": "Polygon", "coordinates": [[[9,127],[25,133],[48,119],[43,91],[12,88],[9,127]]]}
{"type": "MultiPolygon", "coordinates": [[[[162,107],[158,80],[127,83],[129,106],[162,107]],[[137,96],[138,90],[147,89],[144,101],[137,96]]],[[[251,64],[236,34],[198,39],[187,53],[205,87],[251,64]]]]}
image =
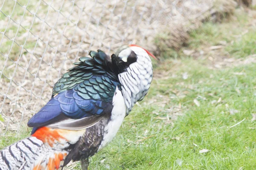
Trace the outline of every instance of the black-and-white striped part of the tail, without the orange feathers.
{"type": "Polygon", "coordinates": [[[32,169],[43,142],[30,136],[0,151],[0,170],[32,169]]]}

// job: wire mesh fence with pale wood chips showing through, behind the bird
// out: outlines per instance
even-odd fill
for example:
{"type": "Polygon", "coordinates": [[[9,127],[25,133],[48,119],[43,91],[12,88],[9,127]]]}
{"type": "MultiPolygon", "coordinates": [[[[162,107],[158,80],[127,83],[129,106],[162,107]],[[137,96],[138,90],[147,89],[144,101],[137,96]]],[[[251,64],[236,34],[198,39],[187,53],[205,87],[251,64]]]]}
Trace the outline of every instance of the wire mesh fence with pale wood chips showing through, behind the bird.
{"type": "Polygon", "coordinates": [[[154,48],[213,0],[0,0],[0,134],[47,103],[59,77],[90,50],[154,48]]]}

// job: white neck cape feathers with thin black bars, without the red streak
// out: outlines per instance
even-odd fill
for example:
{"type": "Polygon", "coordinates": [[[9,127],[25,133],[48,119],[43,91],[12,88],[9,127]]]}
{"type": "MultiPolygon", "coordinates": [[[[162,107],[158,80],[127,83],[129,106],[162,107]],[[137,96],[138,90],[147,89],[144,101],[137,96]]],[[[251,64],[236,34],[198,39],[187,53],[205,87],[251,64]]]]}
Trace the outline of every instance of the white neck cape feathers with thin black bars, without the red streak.
{"type": "Polygon", "coordinates": [[[131,53],[131,51],[137,55],[137,61],[131,63],[126,71],[118,75],[127,107],[126,115],[129,114],[135,103],[142,100],[148,93],[153,77],[151,59],[143,48],[131,46],[127,50],[123,50],[121,52],[123,54],[120,53],[119,57],[131,53]]]}

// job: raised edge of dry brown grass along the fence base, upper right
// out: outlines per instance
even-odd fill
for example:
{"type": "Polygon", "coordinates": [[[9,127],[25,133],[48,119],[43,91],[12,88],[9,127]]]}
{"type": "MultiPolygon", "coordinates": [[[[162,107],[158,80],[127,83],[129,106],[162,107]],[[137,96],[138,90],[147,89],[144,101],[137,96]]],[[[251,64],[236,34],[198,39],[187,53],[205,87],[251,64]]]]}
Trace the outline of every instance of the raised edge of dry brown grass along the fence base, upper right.
{"type": "Polygon", "coordinates": [[[205,21],[221,22],[223,18],[233,15],[237,6],[234,0],[215,0],[213,3],[208,4],[211,4],[211,6],[201,10],[196,15],[187,17],[183,22],[164,27],[156,36],[155,44],[157,48],[154,54],[164,54],[162,56],[172,57],[170,49],[178,51],[183,45],[186,45],[189,39],[189,31],[198,28],[205,21]]]}

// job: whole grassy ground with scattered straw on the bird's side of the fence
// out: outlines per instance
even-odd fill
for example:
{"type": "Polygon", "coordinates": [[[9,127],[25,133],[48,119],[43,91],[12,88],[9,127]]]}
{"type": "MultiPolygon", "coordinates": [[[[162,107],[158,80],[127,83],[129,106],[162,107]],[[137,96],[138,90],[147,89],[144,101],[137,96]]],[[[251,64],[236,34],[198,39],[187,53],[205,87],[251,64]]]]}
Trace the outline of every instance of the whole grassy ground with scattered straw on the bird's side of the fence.
{"type": "MultiPolygon", "coordinates": [[[[255,24],[254,11],[237,9],[190,32],[176,58],[154,62],[148,95],[90,169],[256,168],[255,24]]],[[[23,129],[1,137],[0,148],[28,136],[23,129]]]]}

